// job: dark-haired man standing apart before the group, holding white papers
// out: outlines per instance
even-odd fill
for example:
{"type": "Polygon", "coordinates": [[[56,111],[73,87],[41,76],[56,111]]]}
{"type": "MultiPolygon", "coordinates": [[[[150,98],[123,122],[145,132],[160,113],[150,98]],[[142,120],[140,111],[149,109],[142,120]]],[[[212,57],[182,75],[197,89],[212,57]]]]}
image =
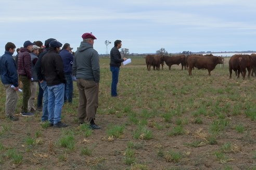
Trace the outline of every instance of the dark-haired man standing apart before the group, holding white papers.
{"type": "Polygon", "coordinates": [[[110,51],[110,71],[112,72],[112,84],[111,84],[111,96],[117,96],[117,83],[118,83],[118,75],[121,63],[126,58],[121,58],[121,53],[118,49],[122,46],[121,40],[114,41],[114,47],[110,51]]]}

